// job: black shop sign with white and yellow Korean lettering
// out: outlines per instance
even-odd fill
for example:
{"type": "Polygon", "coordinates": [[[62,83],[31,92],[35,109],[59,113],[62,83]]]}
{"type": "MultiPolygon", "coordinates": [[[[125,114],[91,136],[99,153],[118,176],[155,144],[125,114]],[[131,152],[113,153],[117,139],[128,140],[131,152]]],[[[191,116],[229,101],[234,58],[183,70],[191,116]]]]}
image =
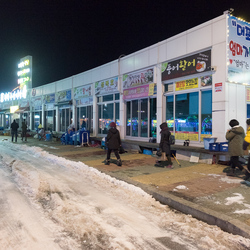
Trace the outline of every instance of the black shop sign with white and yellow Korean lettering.
{"type": "Polygon", "coordinates": [[[211,50],[162,64],[162,81],[211,70],[211,50]]]}

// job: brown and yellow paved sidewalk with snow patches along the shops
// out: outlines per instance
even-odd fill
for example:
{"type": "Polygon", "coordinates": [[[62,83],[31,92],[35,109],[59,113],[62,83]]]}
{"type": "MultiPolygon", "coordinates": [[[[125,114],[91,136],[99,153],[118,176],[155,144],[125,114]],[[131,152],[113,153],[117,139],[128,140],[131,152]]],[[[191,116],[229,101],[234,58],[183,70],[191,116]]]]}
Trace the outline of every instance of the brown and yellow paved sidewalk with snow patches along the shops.
{"type": "MultiPolygon", "coordinates": [[[[10,136],[1,136],[11,141],[10,136]]],[[[45,151],[82,161],[88,166],[119,180],[141,187],[156,200],[173,209],[190,214],[208,224],[250,238],[250,187],[241,184],[243,175],[228,177],[228,166],[219,164],[190,163],[173,160],[174,169],[154,166],[156,158],[131,151],[121,155],[122,167],[116,165],[112,153],[111,164],[104,165],[105,150],[100,147],[75,147],[61,145],[60,141],[48,142],[28,138],[18,144],[38,146],[45,151]]]]}

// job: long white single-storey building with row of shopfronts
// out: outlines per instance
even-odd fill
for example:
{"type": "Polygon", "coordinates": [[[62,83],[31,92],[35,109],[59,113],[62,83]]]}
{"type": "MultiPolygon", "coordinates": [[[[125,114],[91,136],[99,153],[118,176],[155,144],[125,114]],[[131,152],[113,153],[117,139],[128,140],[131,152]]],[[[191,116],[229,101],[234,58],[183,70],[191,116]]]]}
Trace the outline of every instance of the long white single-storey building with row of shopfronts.
{"type": "Polygon", "coordinates": [[[167,122],[177,143],[225,141],[231,119],[250,118],[250,24],[229,14],[79,75],[27,90],[0,104],[0,125],[26,119],[35,131],[71,122],[104,137],[115,121],[122,139],[159,142],[167,122]],[[26,104],[21,102],[26,101],[26,104]],[[10,111],[16,104],[19,111],[10,111]],[[20,111],[22,110],[22,111],[20,111]]]}

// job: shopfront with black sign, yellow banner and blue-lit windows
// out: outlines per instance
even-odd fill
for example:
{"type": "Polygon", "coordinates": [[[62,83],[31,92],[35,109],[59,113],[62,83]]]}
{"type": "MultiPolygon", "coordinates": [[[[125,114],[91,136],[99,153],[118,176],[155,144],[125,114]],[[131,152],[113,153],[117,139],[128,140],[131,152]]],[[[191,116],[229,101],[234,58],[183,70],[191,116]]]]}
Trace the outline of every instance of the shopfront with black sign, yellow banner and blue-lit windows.
{"type": "Polygon", "coordinates": [[[162,64],[164,119],[176,140],[201,142],[212,136],[210,68],[210,50],[162,64]]]}

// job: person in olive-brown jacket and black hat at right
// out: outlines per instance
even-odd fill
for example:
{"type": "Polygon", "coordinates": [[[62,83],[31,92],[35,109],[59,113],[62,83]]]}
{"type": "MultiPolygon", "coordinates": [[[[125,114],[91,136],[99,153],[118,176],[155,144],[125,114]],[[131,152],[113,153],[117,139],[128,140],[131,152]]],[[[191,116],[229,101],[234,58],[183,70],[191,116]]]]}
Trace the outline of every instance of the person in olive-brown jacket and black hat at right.
{"type": "Polygon", "coordinates": [[[226,133],[226,139],[228,140],[228,152],[230,155],[231,170],[227,174],[228,176],[235,176],[235,168],[238,167],[241,171],[243,167],[239,162],[239,156],[243,156],[243,141],[245,137],[244,129],[239,125],[236,119],[232,119],[229,122],[229,129],[226,133]]]}

